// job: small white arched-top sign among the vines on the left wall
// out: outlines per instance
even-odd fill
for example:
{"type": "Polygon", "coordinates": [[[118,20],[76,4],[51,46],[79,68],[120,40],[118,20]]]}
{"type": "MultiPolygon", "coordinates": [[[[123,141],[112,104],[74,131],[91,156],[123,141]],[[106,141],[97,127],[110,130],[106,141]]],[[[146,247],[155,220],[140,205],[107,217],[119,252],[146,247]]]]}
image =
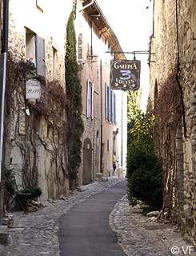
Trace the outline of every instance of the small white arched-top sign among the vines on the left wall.
{"type": "Polygon", "coordinates": [[[41,82],[38,79],[30,78],[26,80],[26,98],[38,99],[41,96],[41,82]]]}

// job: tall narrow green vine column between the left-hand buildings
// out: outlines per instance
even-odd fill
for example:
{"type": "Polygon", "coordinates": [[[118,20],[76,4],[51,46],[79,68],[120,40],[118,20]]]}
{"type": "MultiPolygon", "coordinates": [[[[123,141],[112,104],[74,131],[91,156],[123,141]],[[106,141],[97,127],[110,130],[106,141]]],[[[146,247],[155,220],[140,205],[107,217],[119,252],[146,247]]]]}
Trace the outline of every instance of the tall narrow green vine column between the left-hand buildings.
{"type": "Polygon", "coordinates": [[[66,30],[66,95],[70,100],[67,112],[69,119],[69,174],[71,179],[77,178],[78,167],[81,164],[82,133],[82,86],[78,78],[78,62],[76,57],[76,35],[74,31],[73,13],[67,23],[66,30]]]}

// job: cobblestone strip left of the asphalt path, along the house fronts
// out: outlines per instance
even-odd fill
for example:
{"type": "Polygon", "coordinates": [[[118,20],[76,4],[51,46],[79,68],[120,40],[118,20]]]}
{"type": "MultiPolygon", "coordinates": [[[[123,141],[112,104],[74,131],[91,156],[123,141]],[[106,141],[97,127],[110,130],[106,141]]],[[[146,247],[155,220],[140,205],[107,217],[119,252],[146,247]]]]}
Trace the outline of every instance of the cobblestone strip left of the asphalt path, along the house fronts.
{"type": "Polygon", "coordinates": [[[81,186],[84,191],[74,190],[65,201],[45,202],[46,207],[27,215],[14,211],[11,213],[14,215],[14,226],[9,229],[8,246],[0,245],[0,255],[59,256],[58,218],[75,204],[86,200],[93,194],[107,190],[123,180],[124,178],[110,177],[108,182],[94,182],[81,186]]]}

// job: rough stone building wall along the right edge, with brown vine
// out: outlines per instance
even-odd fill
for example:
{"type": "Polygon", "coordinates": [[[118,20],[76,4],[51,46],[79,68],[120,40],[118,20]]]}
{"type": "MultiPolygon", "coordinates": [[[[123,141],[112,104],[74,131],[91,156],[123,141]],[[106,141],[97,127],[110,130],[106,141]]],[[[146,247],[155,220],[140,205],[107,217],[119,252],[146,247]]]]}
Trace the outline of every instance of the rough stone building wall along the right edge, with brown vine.
{"type": "Polygon", "coordinates": [[[163,166],[164,214],[196,245],[196,2],[154,1],[150,103],[163,166]]]}

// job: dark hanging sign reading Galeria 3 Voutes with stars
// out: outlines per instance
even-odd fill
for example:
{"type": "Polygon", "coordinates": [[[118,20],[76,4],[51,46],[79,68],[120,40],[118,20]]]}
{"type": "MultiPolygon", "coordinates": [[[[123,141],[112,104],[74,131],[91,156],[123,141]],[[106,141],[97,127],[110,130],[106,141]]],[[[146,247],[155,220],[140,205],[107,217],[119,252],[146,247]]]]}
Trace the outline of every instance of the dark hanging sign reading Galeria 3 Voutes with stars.
{"type": "Polygon", "coordinates": [[[110,88],[113,90],[138,90],[140,71],[140,61],[112,60],[110,62],[110,88]]]}

